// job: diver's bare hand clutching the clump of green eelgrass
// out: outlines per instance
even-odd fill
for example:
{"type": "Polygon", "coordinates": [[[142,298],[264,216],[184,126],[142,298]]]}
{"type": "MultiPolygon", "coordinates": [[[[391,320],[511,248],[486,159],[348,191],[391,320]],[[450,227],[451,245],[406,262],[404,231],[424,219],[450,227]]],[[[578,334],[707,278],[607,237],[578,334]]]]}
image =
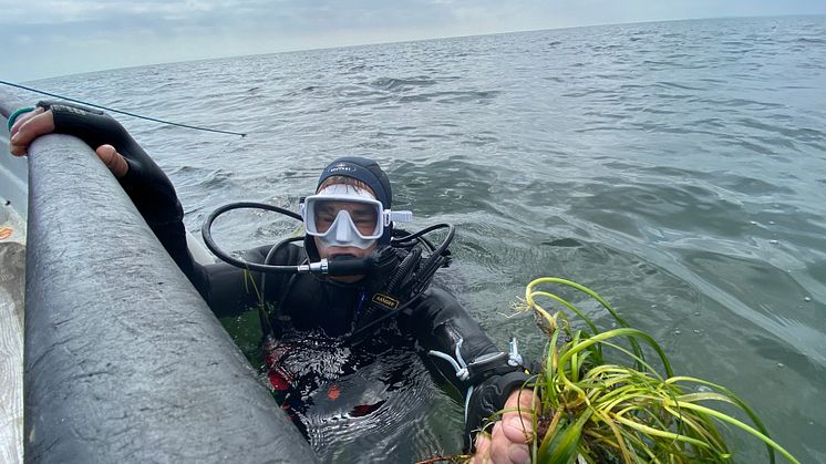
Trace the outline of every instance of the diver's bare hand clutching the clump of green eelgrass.
{"type": "Polygon", "coordinates": [[[473,464],[523,464],[530,462],[527,443],[534,434],[530,413],[534,408],[534,392],[514,390],[505,402],[505,410],[514,410],[496,421],[493,431],[476,435],[476,453],[473,464]]]}

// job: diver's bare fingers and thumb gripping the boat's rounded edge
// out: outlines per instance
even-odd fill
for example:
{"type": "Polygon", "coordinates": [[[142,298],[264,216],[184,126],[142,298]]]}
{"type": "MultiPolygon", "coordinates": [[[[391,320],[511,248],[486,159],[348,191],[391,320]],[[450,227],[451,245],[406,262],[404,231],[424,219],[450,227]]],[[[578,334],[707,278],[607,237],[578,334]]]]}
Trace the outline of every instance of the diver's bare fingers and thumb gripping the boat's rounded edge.
{"type": "MultiPolygon", "coordinates": [[[[34,111],[21,114],[11,127],[10,152],[14,156],[24,156],[29,145],[41,135],[54,132],[54,115],[38,106],[34,111]]],[[[128,172],[126,159],[117,153],[114,146],[104,144],[95,148],[97,157],[115,177],[121,178],[128,172]]]]}

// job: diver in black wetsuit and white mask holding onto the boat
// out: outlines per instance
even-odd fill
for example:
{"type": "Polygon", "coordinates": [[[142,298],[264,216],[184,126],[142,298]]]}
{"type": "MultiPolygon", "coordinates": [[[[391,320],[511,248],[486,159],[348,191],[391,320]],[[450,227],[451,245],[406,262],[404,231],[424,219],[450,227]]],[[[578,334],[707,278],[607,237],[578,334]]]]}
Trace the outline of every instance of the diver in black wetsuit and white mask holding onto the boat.
{"type": "MultiPolygon", "coordinates": [[[[436,354],[438,371],[465,395],[465,446],[475,451],[474,462],[529,462],[529,374],[494,346],[452,295],[430,285],[448,259],[453,229],[440,246],[422,233],[397,229],[395,223],[407,220],[411,213],[392,209],[390,181],[375,162],[349,156],[324,168],[297,216],[306,229],[303,246],[286,240],[251,250],[241,262],[203,266],[187,247],[183,208],[168,177],[114,118],[74,104],[40,102],[32,111],[13,114],[9,125],[16,156],[25,155],[32,141],[49,133],[83,140],[217,316],[258,307],[273,390],[308,393],[296,379],[300,367],[295,360],[301,357],[289,355],[289,344],[278,340],[316,333],[355,346],[402,336],[414,341],[411,349],[417,346],[436,354]],[[250,275],[261,292],[249,291],[250,275]],[[510,411],[486,423],[502,409],[510,411]]],[[[300,413],[300,405],[293,408],[300,413]]]]}

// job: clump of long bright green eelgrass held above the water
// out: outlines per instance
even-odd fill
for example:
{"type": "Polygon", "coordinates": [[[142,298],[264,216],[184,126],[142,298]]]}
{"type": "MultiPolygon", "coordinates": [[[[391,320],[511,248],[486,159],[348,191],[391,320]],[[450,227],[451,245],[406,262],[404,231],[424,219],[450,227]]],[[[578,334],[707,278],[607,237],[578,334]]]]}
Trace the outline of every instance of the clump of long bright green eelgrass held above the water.
{"type": "Polygon", "coordinates": [[[525,289],[520,309],[531,310],[549,342],[534,384],[539,402],[533,413],[535,463],[731,462],[717,429],[720,423],[742,429],[765,443],[770,462],[777,451],[797,461],[768,437],[754,412],[723,386],[691,377],[674,377],[660,346],[629,324],[592,290],[558,278],[540,278],[525,289]],[[599,331],[567,300],[543,285],[575,288],[611,313],[619,328],[599,331]],[[537,302],[546,298],[574,311],[588,330],[572,330],[562,310],[550,312],[537,302]],[[627,347],[620,344],[626,340],[627,347]],[[646,362],[641,344],[659,357],[664,375],[646,362]],[[632,367],[607,363],[603,349],[619,351],[632,367]],[[700,392],[696,392],[696,391],[700,392]],[[709,403],[722,402],[742,410],[754,424],[719,412],[709,403]]]}

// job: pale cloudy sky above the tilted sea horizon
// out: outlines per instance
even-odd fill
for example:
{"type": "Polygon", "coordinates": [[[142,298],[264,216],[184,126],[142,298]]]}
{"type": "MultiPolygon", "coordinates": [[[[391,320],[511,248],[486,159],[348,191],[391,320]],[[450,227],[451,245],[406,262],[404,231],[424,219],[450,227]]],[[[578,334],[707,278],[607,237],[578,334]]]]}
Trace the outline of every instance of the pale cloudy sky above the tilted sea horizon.
{"type": "Polygon", "coordinates": [[[826,14],[826,0],[0,0],[0,80],[458,35],[826,14]]]}

